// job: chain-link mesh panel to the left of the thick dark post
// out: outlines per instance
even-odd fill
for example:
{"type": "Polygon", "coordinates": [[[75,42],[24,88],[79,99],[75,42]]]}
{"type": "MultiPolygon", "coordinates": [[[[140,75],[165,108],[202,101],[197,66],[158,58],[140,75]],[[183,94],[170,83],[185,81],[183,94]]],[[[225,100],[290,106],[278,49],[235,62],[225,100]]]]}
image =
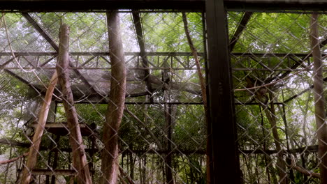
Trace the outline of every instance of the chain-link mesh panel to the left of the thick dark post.
{"type": "MultiPolygon", "coordinates": [[[[143,10],[118,15],[126,88],[122,121],[115,131],[117,181],[204,183],[206,129],[198,79],[198,70],[204,70],[202,14],[185,13],[200,68],[190,52],[182,13],[143,10]]],[[[106,176],[103,154],[110,140],[103,139],[103,127],[112,113],[112,81],[118,80],[108,41],[115,35],[108,36],[113,28],[107,19],[105,11],[1,15],[1,183],[23,183],[24,172],[35,183],[78,181],[82,170],[76,167],[76,151],[85,155],[83,167],[93,183],[106,176]],[[70,27],[66,70],[59,66],[62,24],[70,27]],[[56,77],[58,68],[68,75],[68,88],[60,81],[64,74],[56,77]],[[55,88],[47,101],[51,82],[55,88]],[[66,98],[68,89],[73,102],[66,98]],[[67,112],[74,111],[78,124],[72,125],[67,112]],[[35,139],[38,128],[43,136],[35,139]],[[72,128],[80,130],[82,142],[72,128]],[[41,144],[30,167],[29,147],[36,140],[41,144]]]]}

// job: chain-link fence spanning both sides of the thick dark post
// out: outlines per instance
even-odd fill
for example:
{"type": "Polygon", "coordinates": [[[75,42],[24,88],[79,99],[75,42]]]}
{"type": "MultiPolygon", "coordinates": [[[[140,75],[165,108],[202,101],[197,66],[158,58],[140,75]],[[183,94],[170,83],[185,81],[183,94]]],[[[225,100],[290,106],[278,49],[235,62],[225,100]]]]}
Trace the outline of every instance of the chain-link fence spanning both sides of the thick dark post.
{"type": "MultiPolygon", "coordinates": [[[[208,182],[204,17],[2,14],[1,183],[208,182]]],[[[319,183],[313,51],[326,91],[327,16],[227,18],[242,182],[319,183]]]]}

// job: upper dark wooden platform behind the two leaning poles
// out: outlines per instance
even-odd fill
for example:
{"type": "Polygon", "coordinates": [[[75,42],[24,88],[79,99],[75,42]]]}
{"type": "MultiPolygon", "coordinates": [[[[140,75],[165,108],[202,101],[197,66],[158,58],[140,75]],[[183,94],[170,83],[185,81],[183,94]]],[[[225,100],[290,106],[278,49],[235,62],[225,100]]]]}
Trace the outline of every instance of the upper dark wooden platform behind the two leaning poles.
{"type": "MultiPolygon", "coordinates": [[[[36,128],[38,126],[38,123],[34,122],[29,125],[31,128],[36,128]]],[[[66,122],[47,122],[45,124],[45,130],[48,132],[51,132],[54,135],[68,135],[68,126],[66,122]]],[[[82,136],[90,136],[90,135],[96,135],[97,132],[94,130],[92,131],[92,128],[89,127],[89,125],[85,123],[80,123],[80,132],[82,133],[82,136]]]]}

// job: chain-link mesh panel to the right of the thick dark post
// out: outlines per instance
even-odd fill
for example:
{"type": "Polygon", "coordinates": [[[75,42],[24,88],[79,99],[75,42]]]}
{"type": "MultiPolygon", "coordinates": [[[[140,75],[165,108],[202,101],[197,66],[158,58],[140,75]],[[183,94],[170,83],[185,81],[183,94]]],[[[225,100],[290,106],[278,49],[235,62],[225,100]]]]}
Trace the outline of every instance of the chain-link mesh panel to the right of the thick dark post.
{"type": "MultiPolygon", "coordinates": [[[[326,91],[326,20],[305,12],[228,13],[244,183],[320,182],[324,156],[318,152],[326,142],[320,144],[317,135],[324,126],[316,124],[313,50],[319,45],[326,91]],[[319,36],[312,35],[316,22],[319,36]],[[310,44],[312,39],[318,44],[310,44]]],[[[319,100],[326,99],[321,94],[319,100]]]]}

